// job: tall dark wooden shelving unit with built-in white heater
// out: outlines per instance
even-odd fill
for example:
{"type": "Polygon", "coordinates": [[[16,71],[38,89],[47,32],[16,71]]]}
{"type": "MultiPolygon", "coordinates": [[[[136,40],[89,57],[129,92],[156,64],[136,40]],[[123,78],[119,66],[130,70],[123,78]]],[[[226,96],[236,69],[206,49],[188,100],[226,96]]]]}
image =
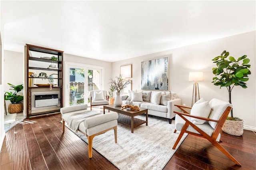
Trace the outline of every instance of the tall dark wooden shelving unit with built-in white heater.
{"type": "Polygon", "coordinates": [[[58,113],[63,107],[63,51],[26,44],[24,58],[24,101],[26,101],[24,110],[27,118],[58,113]],[[58,61],[50,59],[52,56],[57,57],[58,61]],[[48,68],[49,64],[55,65],[56,69],[48,68]],[[49,94],[58,94],[57,105],[49,104],[41,107],[35,104],[35,95],[49,94]]]}

